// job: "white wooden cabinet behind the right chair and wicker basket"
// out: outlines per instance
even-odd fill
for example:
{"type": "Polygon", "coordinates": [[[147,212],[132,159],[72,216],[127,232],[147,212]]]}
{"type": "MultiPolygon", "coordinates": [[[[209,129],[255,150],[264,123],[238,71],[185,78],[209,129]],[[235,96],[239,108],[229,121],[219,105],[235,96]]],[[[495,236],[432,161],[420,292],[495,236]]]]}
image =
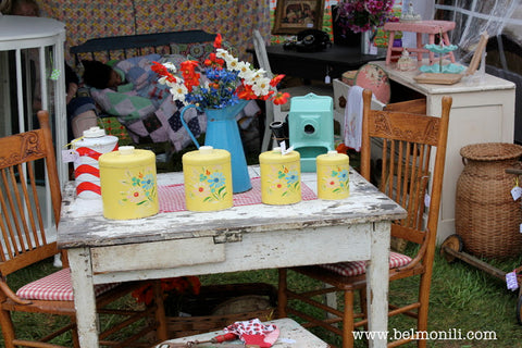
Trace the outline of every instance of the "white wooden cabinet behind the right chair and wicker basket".
{"type": "Polygon", "coordinates": [[[430,115],[440,115],[444,96],[453,99],[437,232],[437,241],[442,243],[455,233],[457,181],[463,169],[460,149],[470,144],[513,142],[515,86],[488,74],[483,79],[455,85],[419,84],[413,79],[417,71],[399,72],[385,62],[374,63],[388,73],[391,82],[426,96],[426,113],[430,115]]]}

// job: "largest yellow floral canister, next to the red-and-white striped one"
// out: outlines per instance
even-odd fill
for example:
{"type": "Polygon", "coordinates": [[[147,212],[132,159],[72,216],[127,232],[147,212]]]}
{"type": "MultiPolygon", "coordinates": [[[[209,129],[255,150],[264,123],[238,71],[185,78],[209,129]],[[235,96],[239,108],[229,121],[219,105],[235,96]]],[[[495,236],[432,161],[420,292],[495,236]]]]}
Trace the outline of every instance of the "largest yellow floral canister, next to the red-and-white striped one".
{"type": "Polygon", "coordinates": [[[128,220],[158,213],[154,152],[122,146],[100,156],[99,165],[103,216],[128,220]]]}

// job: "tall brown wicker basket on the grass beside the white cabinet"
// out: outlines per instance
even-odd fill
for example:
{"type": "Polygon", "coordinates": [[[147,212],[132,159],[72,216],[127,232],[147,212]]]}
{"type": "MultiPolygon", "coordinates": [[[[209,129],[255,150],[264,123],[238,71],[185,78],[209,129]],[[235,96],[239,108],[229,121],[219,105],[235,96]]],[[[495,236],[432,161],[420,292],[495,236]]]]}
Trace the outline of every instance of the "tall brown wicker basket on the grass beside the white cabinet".
{"type": "Polygon", "coordinates": [[[522,210],[511,197],[522,146],[487,142],[460,150],[464,169],[457,183],[455,227],[464,250],[476,257],[505,259],[520,253],[522,210]]]}

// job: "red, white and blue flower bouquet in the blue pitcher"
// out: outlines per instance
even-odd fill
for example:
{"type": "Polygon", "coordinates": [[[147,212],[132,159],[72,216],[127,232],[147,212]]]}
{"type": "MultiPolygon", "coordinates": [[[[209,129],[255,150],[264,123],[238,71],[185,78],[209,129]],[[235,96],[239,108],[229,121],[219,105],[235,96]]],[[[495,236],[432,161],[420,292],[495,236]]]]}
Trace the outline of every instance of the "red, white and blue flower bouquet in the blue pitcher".
{"type": "Polygon", "coordinates": [[[222,48],[220,34],[214,48],[215,53],[204,61],[202,74],[198,72],[199,62],[191,60],[181,63],[179,71],[172,63],[154,62],[152,71],[160,76],[160,84],[170,87],[174,100],[199,109],[222,109],[239,103],[240,99],[272,100],[275,104],[288,100],[288,94],[276,90],[284,75],[270,78],[264,70],[239,61],[222,48]]]}

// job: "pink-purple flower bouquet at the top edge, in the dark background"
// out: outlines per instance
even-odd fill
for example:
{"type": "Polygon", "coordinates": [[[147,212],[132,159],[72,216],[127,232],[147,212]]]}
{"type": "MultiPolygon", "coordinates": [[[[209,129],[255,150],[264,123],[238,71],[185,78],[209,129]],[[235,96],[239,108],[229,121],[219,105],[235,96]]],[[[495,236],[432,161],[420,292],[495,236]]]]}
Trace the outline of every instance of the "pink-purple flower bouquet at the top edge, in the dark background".
{"type": "Polygon", "coordinates": [[[382,26],[391,17],[395,0],[345,0],[339,2],[339,25],[353,33],[382,26]]]}

